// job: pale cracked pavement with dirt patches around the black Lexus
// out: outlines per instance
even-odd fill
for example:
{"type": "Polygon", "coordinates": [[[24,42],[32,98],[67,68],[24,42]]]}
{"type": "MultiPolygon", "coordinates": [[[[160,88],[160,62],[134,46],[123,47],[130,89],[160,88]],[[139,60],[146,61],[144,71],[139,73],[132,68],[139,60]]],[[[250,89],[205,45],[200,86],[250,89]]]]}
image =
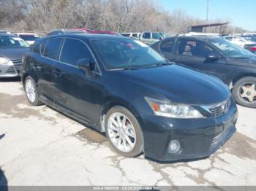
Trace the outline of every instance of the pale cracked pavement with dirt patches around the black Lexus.
{"type": "Polygon", "coordinates": [[[0,81],[0,185],[256,185],[256,109],[238,110],[236,134],[211,157],[156,163],[117,155],[101,133],[0,81]]]}

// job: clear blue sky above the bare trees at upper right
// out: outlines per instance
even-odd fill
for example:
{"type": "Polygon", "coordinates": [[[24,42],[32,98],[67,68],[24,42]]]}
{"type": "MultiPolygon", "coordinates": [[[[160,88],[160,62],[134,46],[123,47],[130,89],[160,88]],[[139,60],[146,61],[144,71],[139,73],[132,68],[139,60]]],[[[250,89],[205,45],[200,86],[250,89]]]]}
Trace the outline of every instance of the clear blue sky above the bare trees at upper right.
{"type": "MultiPolygon", "coordinates": [[[[207,0],[157,0],[167,10],[186,10],[189,15],[206,20],[207,0]]],[[[256,31],[256,0],[209,0],[208,19],[229,19],[232,26],[256,31]]]]}

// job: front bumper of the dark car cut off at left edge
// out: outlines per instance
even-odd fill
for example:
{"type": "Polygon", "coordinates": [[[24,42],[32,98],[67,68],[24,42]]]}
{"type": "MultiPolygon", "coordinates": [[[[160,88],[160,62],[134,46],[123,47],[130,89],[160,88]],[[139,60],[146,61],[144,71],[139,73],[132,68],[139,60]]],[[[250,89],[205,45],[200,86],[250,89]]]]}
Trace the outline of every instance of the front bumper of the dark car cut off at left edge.
{"type": "Polygon", "coordinates": [[[21,63],[7,65],[0,64],[0,78],[20,77],[21,63]]]}

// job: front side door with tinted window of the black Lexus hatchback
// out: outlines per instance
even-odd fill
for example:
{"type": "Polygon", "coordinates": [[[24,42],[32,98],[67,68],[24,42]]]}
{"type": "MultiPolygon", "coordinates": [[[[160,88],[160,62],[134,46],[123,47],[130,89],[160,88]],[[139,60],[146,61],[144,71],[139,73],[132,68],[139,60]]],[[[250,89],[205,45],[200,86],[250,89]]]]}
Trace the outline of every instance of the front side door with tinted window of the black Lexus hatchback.
{"type": "Polygon", "coordinates": [[[69,112],[73,117],[91,122],[99,109],[97,88],[94,83],[100,75],[86,76],[77,65],[78,60],[94,57],[85,42],[67,38],[61,49],[59,63],[53,69],[54,99],[56,106],[69,112]]]}

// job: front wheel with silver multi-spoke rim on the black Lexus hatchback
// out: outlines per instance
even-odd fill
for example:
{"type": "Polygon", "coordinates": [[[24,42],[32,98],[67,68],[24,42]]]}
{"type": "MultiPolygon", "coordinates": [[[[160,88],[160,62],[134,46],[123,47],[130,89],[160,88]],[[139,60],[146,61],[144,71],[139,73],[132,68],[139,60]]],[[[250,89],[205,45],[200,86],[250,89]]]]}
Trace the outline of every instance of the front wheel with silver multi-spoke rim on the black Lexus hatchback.
{"type": "Polygon", "coordinates": [[[136,117],[122,106],[114,106],[106,114],[106,135],[111,147],[125,157],[143,152],[143,134],[136,117]]]}

